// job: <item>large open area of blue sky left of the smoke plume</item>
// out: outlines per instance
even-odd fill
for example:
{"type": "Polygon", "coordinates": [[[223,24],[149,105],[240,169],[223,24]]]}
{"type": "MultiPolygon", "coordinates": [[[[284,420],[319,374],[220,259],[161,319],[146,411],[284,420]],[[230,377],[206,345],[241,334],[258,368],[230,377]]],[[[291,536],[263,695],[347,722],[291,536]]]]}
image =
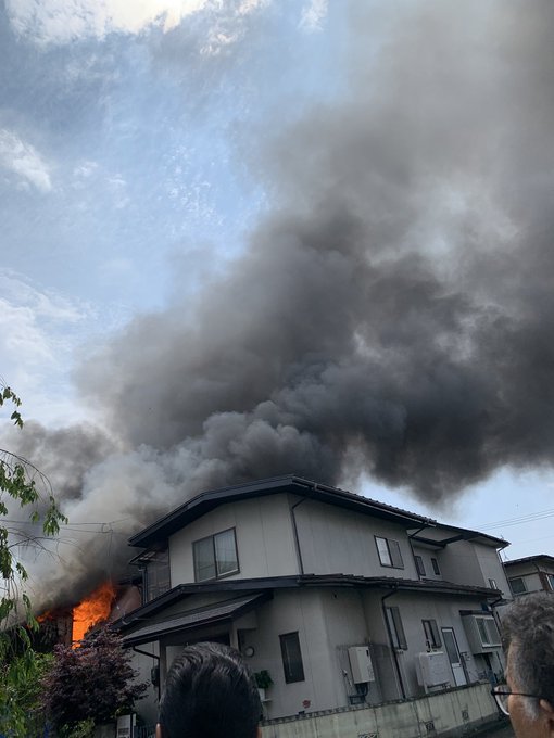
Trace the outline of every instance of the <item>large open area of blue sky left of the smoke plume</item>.
{"type": "Polygon", "coordinates": [[[243,247],[267,206],[248,162],[267,118],[278,129],[340,85],[325,3],[152,2],[142,22],[96,5],[0,16],[2,374],[55,423],[84,411],[68,376],[79,346],[243,247]],[[173,7],[182,21],[164,28],[173,7]]]}

